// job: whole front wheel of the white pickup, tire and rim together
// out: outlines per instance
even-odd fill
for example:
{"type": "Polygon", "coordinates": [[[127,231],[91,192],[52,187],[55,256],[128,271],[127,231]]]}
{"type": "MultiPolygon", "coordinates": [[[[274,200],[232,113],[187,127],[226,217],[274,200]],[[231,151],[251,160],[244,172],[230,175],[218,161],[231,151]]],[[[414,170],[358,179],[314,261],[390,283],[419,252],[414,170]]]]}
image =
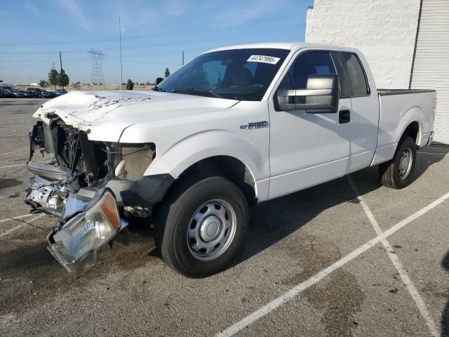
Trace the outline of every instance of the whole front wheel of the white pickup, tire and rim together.
{"type": "Polygon", "coordinates": [[[232,263],[249,222],[239,187],[222,177],[185,181],[163,202],[156,244],[166,264],[187,277],[207,277],[232,263]]]}

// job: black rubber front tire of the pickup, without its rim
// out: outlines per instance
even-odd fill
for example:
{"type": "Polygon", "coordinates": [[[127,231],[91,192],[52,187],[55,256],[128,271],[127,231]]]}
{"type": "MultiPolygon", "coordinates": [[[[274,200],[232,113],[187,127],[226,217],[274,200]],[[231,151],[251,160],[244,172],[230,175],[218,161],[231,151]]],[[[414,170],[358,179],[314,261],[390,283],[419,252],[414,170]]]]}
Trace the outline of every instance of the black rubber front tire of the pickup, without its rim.
{"type": "Polygon", "coordinates": [[[155,242],[163,261],[182,275],[200,278],[221,272],[232,263],[243,246],[249,210],[243,193],[231,181],[222,177],[194,178],[173,186],[157,209],[157,218],[155,242]],[[217,199],[232,206],[234,234],[220,256],[213,260],[199,260],[187,242],[187,228],[199,207],[217,199]]]}

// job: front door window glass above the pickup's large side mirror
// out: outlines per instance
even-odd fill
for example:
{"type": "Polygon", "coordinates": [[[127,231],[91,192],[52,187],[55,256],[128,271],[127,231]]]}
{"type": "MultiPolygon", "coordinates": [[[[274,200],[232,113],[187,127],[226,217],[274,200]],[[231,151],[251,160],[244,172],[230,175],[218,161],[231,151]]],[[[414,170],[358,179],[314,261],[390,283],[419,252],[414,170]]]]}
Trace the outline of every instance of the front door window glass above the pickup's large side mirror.
{"type": "Polygon", "coordinates": [[[314,74],[337,74],[328,51],[309,51],[301,54],[284,77],[280,88],[307,89],[307,79],[314,74]]]}

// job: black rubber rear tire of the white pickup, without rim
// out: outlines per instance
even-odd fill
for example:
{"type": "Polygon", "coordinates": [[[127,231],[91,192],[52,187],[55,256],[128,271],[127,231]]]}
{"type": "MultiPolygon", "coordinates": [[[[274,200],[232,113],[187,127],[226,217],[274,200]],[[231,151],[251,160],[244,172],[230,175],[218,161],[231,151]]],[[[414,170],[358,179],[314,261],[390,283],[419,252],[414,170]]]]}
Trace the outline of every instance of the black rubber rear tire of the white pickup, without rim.
{"type": "Polygon", "coordinates": [[[395,188],[396,190],[401,189],[410,185],[413,181],[413,171],[415,170],[416,164],[416,145],[415,140],[411,137],[403,138],[401,143],[399,143],[396,152],[394,153],[393,159],[387,161],[379,166],[380,182],[382,185],[395,188]],[[401,157],[405,151],[409,151],[411,157],[410,170],[407,175],[401,178],[401,157]]]}

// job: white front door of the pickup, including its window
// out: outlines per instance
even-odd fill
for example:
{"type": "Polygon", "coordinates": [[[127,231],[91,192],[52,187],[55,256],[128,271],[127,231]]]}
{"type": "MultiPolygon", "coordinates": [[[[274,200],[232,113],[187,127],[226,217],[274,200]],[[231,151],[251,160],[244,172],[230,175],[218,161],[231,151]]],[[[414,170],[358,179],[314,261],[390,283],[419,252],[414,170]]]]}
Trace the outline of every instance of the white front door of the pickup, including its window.
{"type": "MultiPolygon", "coordinates": [[[[283,75],[278,89],[306,89],[313,74],[338,74],[330,51],[300,51],[283,75]]],[[[269,199],[344,176],[349,157],[349,126],[340,117],[351,113],[351,100],[342,95],[336,113],[282,111],[276,93],[269,103],[269,199]],[[276,107],[277,106],[277,107],[276,107]]]]}

